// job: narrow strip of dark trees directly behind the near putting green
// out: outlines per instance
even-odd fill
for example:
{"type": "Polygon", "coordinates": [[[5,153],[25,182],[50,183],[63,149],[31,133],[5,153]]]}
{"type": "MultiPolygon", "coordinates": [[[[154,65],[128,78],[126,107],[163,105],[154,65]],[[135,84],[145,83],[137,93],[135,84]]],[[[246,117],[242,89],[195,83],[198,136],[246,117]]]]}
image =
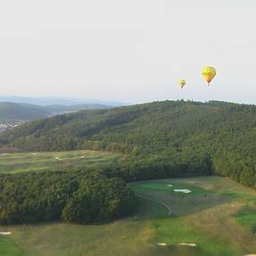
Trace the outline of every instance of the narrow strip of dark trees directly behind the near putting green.
{"type": "Polygon", "coordinates": [[[127,182],[213,174],[211,159],[200,153],[194,153],[190,157],[168,153],[152,154],[147,157],[129,157],[115,164],[99,165],[95,169],[109,178],[122,178],[127,182]]]}

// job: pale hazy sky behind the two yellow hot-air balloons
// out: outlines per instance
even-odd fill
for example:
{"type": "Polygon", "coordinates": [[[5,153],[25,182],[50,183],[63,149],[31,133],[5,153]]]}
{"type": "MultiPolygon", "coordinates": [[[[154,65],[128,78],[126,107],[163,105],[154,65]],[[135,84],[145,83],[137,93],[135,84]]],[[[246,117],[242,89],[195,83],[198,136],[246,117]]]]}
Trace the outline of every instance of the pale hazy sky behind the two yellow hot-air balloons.
{"type": "Polygon", "coordinates": [[[0,94],[256,103],[255,14],[255,0],[3,0],[0,94]]]}

